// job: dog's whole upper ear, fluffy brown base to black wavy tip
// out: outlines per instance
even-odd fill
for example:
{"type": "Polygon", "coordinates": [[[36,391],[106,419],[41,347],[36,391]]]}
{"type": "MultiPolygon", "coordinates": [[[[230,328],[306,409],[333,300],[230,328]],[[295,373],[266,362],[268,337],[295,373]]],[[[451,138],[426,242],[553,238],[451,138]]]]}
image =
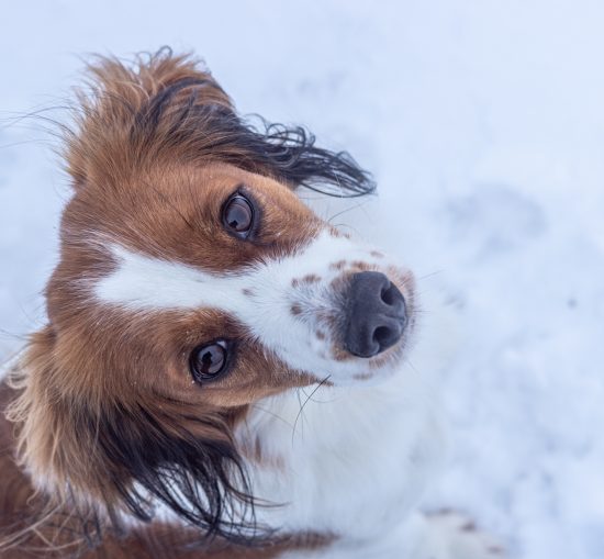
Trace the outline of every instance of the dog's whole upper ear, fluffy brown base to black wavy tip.
{"type": "Polygon", "coordinates": [[[238,116],[208,70],[164,48],[138,56],[134,67],[101,58],[80,92],[76,128],[67,133],[68,169],[76,186],[127,180],[149,165],[223,161],[272,176],[288,186],[348,198],[376,186],[346,152],[315,146],[301,126],[238,116]]]}

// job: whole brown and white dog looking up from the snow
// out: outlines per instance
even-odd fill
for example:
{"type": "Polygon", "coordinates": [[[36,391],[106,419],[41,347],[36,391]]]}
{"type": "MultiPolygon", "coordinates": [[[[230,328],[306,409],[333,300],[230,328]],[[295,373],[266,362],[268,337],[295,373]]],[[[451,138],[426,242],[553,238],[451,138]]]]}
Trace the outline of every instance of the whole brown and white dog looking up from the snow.
{"type": "Polygon", "coordinates": [[[190,55],[89,76],[47,325],[0,393],[2,557],[501,557],[417,511],[443,437],[412,272],[298,195],[370,175],[190,55]]]}

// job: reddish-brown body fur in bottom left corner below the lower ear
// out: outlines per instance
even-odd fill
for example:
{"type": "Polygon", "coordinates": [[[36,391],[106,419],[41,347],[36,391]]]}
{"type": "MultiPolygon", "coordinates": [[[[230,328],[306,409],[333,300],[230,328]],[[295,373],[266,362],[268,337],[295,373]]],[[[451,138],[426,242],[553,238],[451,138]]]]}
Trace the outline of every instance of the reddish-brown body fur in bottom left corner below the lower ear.
{"type": "Polygon", "coordinates": [[[87,549],[85,543],[71,534],[81,528],[80,521],[70,518],[65,511],[44,517],[47,503],[36,495],[30,479],[15,463],[13,426],[4,416],[14,396],[13,389],[0,383],[0,541],[2,536],[10,534],[19,544],[0,551],[2,559],[65,559],[76,555],[81,559],[192,559],[201,556],[208,559],[271,559],[286,550],[311,549],[329,541],[321,536],[300,536],[258,548],[233,547],[220,540],[200,548],[195,545],[199,534],[194,530],[156,523],[122,537],[109,533],[101,545],[87,549]],[[41,517],[43,522],[32,530],[32,523],[41,517]],[[63,529],[56,529],[59,523],[63,529]],[[187,549],[188,545],[193,547],[187,549]]]}

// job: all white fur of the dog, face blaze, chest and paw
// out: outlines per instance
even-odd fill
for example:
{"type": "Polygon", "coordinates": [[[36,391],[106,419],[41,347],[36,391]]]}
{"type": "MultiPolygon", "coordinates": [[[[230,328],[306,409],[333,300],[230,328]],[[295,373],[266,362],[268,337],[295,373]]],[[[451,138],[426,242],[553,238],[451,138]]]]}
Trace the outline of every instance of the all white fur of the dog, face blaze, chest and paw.
{"type": "MultiPolygon", "coordinates": [[[[126,312],[217,309],[291,368],[329,374],[336,384],[366,368],[363,359],[329,357],[332,340],[316,336],[316,316],[335,305],[332,282],[342,273],[336,262],[389,266],[370,248],[324,232],[293,256],[223,275],[120,245],[110,250],[116,268],[92,286],[104,304],[126,312]],[[294,281],[309,275],[321,279],[294,281]],[[293,314],[293,304],[302,312],[293,314]]],[[[260,523],[289,534],[343,537],[283,558],[494,559],[482,539],[412,513],[444,450],[425,379],[407,369],[380,385],[314,388],[257,402],[236,432],[242,447],[257,445],[260,454],[260,461],[247,463],[253,493],[282,505],[259,506],[260,523]]],[[[175,519],[160,505],[158,515],[175,519]]]]}

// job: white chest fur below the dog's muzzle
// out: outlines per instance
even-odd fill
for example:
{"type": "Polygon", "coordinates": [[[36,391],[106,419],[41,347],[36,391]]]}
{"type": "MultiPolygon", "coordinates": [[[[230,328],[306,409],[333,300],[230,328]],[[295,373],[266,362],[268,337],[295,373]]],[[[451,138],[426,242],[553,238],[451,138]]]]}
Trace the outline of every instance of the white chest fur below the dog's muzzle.
{"type": "Polygon", "coordinates": [[[444,449],[424,379],[405,369],[378,385],[306,387],[253,406],[237,431],[261,448],[253,492],[284,504],[259,507],[259,519],[357,540],[398,528],[444,449]]]}

